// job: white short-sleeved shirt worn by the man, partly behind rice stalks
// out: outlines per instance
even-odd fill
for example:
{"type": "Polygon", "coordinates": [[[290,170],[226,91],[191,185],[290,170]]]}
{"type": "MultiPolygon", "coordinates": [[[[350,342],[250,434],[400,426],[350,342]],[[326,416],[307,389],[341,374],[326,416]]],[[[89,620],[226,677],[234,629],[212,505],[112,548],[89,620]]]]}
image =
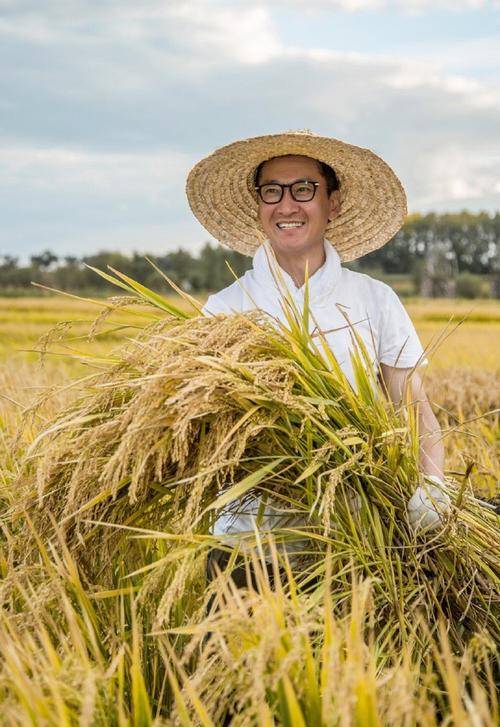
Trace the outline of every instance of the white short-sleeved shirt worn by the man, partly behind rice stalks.
{"type": "MultiPolygon", "coordinates": [[[[335,248],[326,241],[325,255],[325,263],[308,283],[310,332],[314,335],[316,325],[321,329],[352,386],[355,388],[350,352],[356,343],[351,327],[361,337],[375,371],[379,363],[397,368],[426,364],[415,327],[392,288],[369,275],[342,267],[335,248]]],[[[305,286],[296,288],[290,275],[278,265],[272,247],[266,241],[254,256],[253,268],[227,288],[211,295],[203,312],[217,315],[260,309],[286,324],[283,295],[290,295],[302,310],[304,293],[305,286]]],[[[244,513],[237,515],[233,512],[235,505],[219,517],[214,533],[253,530],[259,502],[256,498],[244,513]]],[[[260,527],[271,529],[283,524],[283,517],[268,506],[260,527]]]]}

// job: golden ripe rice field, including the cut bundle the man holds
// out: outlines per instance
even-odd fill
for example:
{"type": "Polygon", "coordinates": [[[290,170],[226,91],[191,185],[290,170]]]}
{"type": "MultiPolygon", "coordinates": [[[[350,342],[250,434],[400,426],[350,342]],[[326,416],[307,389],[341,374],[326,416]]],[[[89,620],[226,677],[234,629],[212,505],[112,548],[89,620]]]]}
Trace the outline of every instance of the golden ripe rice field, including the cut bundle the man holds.
{"type": "Polygon", "coordinates": [[[500,489],[500,303],[406,307],[455,503],[430,542],[403,522],[411,421],[346,399],[300,328],[0,300],[2,724],[498,724],[498,517],[475,495],[500,489]],[[207,587],[213,513],[255,490],[317,519],[249,533],[252,587],[207,587]]]}

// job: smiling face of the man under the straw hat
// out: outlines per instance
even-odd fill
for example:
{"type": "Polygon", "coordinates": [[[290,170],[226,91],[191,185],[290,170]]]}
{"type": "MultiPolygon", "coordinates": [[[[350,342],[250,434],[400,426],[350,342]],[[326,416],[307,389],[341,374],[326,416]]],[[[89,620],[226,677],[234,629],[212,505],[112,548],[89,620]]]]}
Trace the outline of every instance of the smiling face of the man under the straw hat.
{"type": "Polygon", "coordinates": [[[308,256],[323,250],[325,229],[328,220],[339,212],[340,195],[338,192],[328,195],[317,161],[306,156],[270,159],[263,165],[257,181],[257,184],[291,184],[304,179],[319,183],[309,202],[296,202],[289,188],[277,204],[266,204],[259,197],[260,223],[280,256],[308,256]]]}

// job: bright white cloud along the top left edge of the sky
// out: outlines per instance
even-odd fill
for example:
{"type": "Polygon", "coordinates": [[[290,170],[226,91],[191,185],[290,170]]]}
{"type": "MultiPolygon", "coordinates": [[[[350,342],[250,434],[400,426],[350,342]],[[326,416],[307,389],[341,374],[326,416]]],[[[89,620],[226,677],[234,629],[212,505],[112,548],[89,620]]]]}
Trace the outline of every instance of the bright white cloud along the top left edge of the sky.
{"type": "Polygon", "coordinates": [[[189,54],[190,64],[202,58],[208,65],[228,58],[265,62],[282,50],[263,3],[150,0],[137,5],[127,0],[109,4],[48,0],[43,6],[21,2],[10,7],[11,12],[0,19],[0,35],[41,45],[122,41],[137,44],[136,52],[141,52],[142,46],[157,41],[179,55],[189,54]]]}

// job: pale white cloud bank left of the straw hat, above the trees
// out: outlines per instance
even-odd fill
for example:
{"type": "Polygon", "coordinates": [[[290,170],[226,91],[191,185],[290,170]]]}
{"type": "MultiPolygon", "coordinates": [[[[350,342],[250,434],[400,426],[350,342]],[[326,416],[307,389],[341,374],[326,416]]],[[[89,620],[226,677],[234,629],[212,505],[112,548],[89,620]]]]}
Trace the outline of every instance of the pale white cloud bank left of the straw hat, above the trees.
{"type": "Polygon", "coordinates": [[[0,255],[196,250],[208,235],[184,199],[194,161],[175,150],[0,147],[0,255]]]}

